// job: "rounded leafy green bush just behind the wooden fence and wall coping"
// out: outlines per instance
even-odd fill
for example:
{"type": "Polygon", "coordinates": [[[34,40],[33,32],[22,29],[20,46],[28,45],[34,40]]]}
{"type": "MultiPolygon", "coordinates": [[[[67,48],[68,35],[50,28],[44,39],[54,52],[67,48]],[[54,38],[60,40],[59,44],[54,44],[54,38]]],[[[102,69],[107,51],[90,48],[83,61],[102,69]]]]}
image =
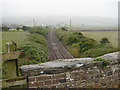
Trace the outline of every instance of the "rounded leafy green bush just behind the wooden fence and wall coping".
{"type": "Polygon", "coordinates": [[[27,58],[36,62],[43,63],[48,59],[47,49],[43,45],[35,42],[29,42],[19,48],[19,50],[24,50],[27,58]]]}

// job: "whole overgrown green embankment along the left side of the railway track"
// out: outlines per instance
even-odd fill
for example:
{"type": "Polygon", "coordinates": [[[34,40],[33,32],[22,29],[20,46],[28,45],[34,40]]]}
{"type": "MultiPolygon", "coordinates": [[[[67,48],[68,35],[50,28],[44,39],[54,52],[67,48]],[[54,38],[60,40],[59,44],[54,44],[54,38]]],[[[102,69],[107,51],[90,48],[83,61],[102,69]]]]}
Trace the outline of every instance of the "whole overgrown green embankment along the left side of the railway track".
{"type": "Polygon", "coordinates": [[[21,61],[20,65],[46,62],[48,60],[48,49],[45,37],[49,29],[34,27],[29,32],[28,42],[19,48],[26,53],[25,60],[21,61]]]}

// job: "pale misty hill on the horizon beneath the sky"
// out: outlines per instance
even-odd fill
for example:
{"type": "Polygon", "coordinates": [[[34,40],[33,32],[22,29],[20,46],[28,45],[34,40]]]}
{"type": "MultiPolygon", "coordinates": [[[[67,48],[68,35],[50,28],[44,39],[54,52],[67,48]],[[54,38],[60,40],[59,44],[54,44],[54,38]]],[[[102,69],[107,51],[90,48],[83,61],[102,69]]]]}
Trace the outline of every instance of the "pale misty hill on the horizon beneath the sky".
{"type": "Polygon", "coordinates": [[[70,19],[72,25],[97,25],[107,27],[117,27],[118,21],[113,18],[90,17],[90,16],[43,16],[43,17],[3,17],[2,21],[6,24],[33,24],[33,18],[37,25],[41,24],[67,24],[70,19]]]}

